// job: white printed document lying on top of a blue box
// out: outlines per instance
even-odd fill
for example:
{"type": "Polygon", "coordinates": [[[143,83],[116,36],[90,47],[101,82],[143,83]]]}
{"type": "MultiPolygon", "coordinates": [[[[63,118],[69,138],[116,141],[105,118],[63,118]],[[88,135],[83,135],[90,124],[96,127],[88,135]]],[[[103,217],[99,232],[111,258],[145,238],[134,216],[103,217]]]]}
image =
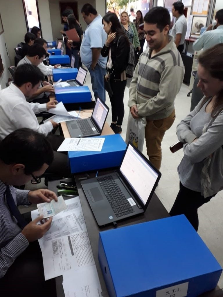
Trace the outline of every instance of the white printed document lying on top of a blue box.
{"type": "Polygon", "coordinates": [[[57,151],[101,151],[105,138],[65,138],[57,151]]]}

